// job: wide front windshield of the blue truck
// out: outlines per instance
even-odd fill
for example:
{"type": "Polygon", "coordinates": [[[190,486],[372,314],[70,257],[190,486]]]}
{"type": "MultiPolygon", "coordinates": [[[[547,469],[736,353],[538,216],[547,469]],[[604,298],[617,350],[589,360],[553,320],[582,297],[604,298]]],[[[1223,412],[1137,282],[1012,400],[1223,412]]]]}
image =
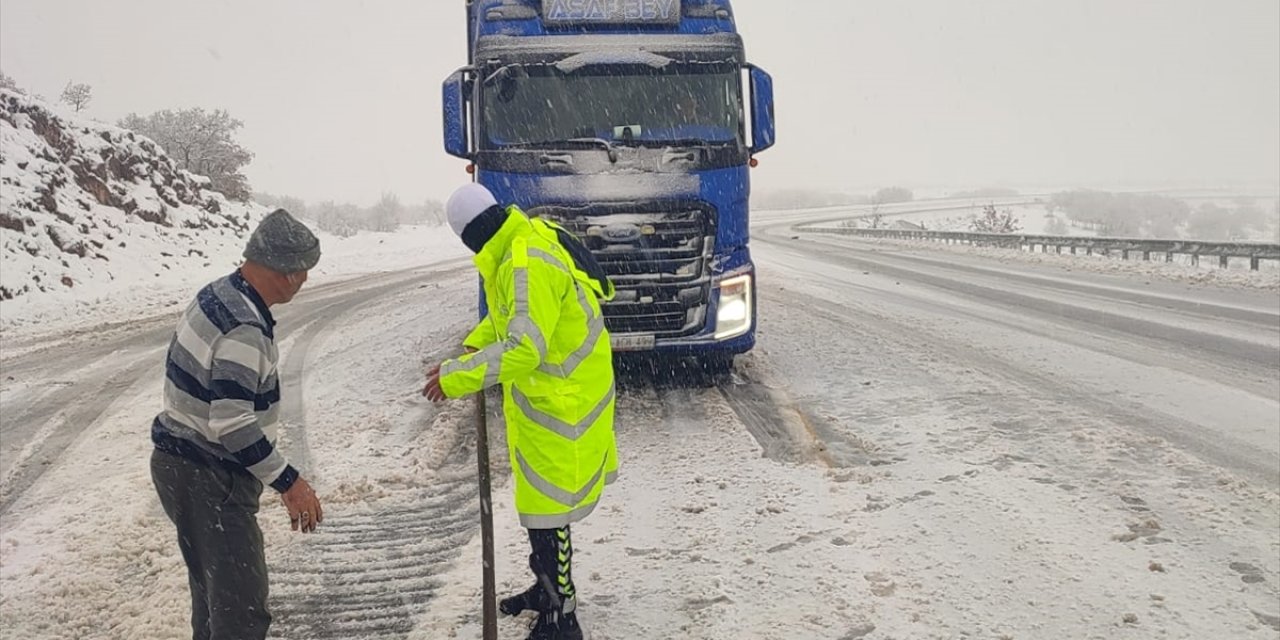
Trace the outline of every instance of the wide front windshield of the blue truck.
{"type": "Polygon", "coordinates": [[[741,78],[733,68],[504,67],[483,90],[486,148],[607,141],[618,145],[741,145],[741,78]]]}

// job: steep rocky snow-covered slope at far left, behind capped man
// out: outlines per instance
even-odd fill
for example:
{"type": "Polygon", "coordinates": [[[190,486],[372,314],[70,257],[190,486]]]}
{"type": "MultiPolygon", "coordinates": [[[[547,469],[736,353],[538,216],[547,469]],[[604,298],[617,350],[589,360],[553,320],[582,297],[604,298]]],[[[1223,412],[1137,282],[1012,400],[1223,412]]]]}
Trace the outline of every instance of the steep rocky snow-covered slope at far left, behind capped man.
{"type": "Polygon", "coordinates": [[[50,298],[225,270],[256,205],[229,202],[155,142],[0,91],[0,300],[50,298]]]}

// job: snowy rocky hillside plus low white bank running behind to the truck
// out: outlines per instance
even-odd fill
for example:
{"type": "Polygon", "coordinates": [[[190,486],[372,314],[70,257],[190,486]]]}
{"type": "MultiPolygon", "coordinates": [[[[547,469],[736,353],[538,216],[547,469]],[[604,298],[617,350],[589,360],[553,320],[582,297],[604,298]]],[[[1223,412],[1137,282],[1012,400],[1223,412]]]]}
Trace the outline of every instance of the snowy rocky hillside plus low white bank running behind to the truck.
{"type": "MultiPolygon", "coordinates": [[[[6,335],[184,305],[192,287],[239,264],[250,232],[268,211],[228,201],[148,138],[0,90],[0,326],[6,335]]],[[[457,238],[430,225],[317,236],[316,283],[465,255],[457,238]]]]}

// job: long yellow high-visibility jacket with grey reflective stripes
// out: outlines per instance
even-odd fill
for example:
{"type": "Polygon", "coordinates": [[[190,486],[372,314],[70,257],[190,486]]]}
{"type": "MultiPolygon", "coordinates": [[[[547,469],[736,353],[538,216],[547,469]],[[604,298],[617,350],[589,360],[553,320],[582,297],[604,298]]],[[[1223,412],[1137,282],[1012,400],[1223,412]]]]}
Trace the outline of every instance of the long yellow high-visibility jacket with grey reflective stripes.
{"type": "Polygon", "coordinates": [[[613,285],[577,268],[556,228],[507,209],[475,256],[489,312],[479,349],[440,367],[451,398],[502,384],[516,511],[527,529],[586,517],[617,476],[613,349],[600,300],[613,285]]]}

